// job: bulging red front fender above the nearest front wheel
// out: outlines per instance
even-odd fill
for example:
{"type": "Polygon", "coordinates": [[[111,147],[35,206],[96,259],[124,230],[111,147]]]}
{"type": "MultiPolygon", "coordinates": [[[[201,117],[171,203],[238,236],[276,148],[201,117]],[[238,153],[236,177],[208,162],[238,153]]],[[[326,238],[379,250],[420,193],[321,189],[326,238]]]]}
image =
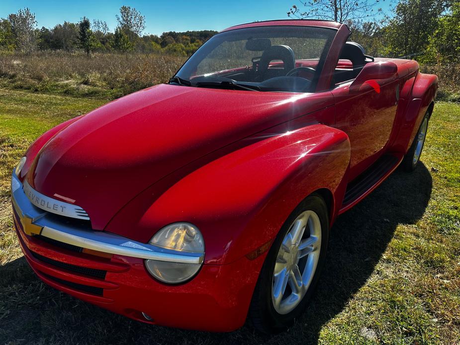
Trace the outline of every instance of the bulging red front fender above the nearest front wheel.
{"type": "Polygon", "coordinates": [[[167,224],[190,222],[203,234],[205,263],[230,263],[271,241],[292,210],[317,189],[334,196],[335,213],[349,162],[348,136],[325,125],[267,135],[187,174],[139,220],[128,222],[130,210],[142,209],[147,200],[145,195],[134,199],[120,213],[121,222],[115,218],[106,230],[130,223],[136,238],[142,234],[147,242],[167,224]]]}

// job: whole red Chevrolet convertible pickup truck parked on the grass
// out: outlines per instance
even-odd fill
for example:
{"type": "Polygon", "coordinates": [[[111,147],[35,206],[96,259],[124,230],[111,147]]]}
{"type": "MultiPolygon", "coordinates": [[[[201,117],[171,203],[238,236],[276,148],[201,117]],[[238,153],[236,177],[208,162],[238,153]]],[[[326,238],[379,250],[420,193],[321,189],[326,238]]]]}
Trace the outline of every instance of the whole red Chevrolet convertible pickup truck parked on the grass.
{"type": "Polygon", "coordinates": [[[230,27],[168,84],[43,134],[11,181],[35,273],[150,324],[288,327],[336,217],[416,167],[437,93],[417,62],[349,35],[321,20],[230,27]]]}

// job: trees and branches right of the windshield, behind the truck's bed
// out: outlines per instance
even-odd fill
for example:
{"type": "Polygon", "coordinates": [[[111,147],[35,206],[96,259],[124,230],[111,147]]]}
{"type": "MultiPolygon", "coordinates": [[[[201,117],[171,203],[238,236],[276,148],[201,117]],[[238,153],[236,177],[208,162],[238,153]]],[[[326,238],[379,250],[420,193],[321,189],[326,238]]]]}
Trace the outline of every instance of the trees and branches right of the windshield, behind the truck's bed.
{"type": "Polygon", "coordinates": [[[459,0],[397,0],[389,13],[379,5],[380,0],[308,0],[293,5],[287,15],[348,23],[351,40],[368,55],[427,65],[460,63],[459,0]]]}

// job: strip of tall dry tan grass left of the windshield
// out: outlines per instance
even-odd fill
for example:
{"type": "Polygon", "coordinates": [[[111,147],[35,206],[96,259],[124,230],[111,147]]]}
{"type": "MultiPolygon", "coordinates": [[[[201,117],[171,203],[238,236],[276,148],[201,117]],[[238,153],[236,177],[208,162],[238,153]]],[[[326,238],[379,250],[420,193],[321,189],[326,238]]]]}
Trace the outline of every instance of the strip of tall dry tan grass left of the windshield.
{"type": "Polygon", "coordinates": [[[184,57],[165,54],[92,54],[44,51],[0,55],[0,85],[115,98],[171,78],[184,57]]]}

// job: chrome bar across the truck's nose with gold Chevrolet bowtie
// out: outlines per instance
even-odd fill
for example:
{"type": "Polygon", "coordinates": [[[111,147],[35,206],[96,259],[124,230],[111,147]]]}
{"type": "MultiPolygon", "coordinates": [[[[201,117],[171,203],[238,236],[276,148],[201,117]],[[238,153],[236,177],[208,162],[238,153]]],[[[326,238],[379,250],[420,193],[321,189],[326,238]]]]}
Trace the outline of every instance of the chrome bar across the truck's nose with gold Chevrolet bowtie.
{"type": "Polygon", "coordinates": [[[139,259],[180,263],[202,263],[204,259],[204,254],[179,252],[131,241],[104,231],[94,231],[89,225],[78,222],[70,227],[65,222],[66,217],[56,216],[33,205],[14,172],[11,178],[11,199],[24,232],[30,236],[41,235],[93,251],[139,259]]]}

